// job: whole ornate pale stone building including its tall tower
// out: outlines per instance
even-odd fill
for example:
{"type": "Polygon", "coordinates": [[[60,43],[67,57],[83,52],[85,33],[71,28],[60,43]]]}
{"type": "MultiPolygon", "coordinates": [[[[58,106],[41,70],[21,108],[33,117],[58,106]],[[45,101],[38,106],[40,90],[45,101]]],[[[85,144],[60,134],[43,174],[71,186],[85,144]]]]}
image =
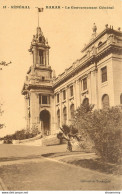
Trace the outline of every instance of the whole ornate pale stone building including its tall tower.
{"type": "Polygon", "coordinates": [[[29,51],[29,68],[22,94],[26,102],[27,128],[37,126],[43,135],[55,134],[70,124],[81,103],[101,109],[122,104],[122,32],[105,26],[97,34],[94,24],[90,42],[81,58],[55,77],[49,64],[49,49],[41,28],[37,28],[29,51]]]}

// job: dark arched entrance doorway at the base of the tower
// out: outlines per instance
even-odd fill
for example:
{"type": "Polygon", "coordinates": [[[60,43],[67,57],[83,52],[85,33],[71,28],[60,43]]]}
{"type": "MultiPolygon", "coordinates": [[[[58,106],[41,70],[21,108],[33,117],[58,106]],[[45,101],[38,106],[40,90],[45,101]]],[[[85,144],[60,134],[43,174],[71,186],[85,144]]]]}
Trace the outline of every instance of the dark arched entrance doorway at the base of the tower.
{"type": "Polygon", "coordinates": [[[50,113],[47,110],[40,112],[42,135],[50,135],[50,113]]]}

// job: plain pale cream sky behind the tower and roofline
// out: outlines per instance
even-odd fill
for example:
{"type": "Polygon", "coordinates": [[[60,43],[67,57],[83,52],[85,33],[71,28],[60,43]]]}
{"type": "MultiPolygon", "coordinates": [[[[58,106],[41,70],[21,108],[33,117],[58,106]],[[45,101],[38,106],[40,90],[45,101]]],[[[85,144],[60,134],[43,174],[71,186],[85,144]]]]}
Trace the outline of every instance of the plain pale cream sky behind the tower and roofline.
{"type": "Polygon", "coordinates": [[[82,56],[81,49],[91,38],[93,23],[98,34],[105,29],[105,24],[122,29],[122,0],[0,0],[0,62],[12,61],[0,70],[0,103],[4,110],[0,119],[6,125],[0,130],[0,137],[26,127],[21,90],[32,65],[28,49],[38,24],[35,7],[44,8],[39,17],[40,27],[48,38],[50,65],[56,75],[82,56]],[[30,9],[11,9],[14,5],[30,9]],[[64,8],[46,9],[46,6],[64,8]],[[114,6],[114,9],[81,10],[65,9],[65,6],[114,6]]]}

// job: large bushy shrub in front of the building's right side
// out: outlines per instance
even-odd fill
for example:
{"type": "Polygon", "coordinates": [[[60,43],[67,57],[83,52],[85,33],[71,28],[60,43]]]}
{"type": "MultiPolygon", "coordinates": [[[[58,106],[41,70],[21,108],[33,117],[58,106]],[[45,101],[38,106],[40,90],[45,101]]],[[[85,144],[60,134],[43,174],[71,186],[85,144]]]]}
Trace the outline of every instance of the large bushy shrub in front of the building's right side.
{"type": "Polygon", "coordinates": [[[120,163],[122,107],[93,111],[93,108],[84,108],[81,105],[75,116],[75,126],[82,135],[85,134],[88,139],[90,137],[97,154],[107,162],[120,163]]]}

